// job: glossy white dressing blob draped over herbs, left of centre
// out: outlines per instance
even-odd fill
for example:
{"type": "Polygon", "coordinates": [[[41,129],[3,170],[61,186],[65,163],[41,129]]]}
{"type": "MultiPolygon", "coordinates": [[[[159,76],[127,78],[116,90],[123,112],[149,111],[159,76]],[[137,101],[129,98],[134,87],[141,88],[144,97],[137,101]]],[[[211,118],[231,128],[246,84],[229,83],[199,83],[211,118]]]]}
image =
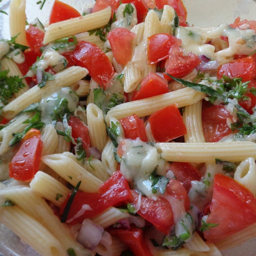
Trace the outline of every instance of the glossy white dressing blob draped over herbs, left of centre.
{"type": "Polygon", "coordinates": [[[66,99],[68,101],[68,108],[70,112],[73,112],[78,107],[78,97],[71,91],[69,87],[59,88],[53,94],[44,97],[39,102],[38,110],[41,112],[41,121],[45,124],[55,125],[56,120],[52,120],[54,116],[54,110],[56,110],[61,102],[66,99]]]}

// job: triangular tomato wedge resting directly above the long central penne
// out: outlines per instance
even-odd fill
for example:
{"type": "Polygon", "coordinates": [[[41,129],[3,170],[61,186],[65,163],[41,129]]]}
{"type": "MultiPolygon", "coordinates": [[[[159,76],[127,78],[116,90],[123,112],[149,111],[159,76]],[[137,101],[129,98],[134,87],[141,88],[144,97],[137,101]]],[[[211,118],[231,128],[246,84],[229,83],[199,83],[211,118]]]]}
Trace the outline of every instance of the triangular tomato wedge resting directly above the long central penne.
{"type": "Polygon", "coordinates": [[[150,72],[133,92],[131,100],[141,100],[169,92],[168,83],[156,73],[150,72]]]}

